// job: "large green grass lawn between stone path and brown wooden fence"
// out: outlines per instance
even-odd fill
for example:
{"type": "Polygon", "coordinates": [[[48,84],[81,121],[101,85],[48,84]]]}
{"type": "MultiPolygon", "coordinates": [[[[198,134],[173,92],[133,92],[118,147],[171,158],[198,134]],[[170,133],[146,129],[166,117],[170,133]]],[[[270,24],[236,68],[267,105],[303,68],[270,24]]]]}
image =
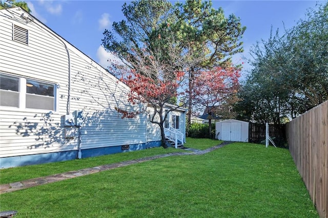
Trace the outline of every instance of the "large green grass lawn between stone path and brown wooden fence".
{"type": "Polygon", "coordinates": [[[17,210],[17,217],[318,217],[289,151],[249,143],[156,159],[0,198],[1,210],[17,210]]]}

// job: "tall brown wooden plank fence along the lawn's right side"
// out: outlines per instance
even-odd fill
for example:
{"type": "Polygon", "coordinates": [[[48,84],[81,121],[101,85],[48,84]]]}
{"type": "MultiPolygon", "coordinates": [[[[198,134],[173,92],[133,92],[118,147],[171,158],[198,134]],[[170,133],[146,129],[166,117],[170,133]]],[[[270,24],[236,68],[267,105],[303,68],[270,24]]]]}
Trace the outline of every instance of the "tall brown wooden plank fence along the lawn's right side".
{"type": "Polygon", "coordinates": [[[328,216],[328,101],[286,125],[289,149],[320,217],[328,216]]]}

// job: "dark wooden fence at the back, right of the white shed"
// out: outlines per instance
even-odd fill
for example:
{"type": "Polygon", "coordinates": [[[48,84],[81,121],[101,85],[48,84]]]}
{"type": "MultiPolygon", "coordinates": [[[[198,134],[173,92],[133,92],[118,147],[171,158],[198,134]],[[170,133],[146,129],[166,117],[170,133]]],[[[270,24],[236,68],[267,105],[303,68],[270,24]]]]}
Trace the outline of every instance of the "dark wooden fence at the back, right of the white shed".
{"type": "MultiPolygon", "coordinates": [[[[286,146],[285,124],[269,123],[269,136],[274,138],[274,143],[279,147],[286,146]]],[[[249,123],[248,141],[261,143],[265,140],[265,123],[249,123]]]]}

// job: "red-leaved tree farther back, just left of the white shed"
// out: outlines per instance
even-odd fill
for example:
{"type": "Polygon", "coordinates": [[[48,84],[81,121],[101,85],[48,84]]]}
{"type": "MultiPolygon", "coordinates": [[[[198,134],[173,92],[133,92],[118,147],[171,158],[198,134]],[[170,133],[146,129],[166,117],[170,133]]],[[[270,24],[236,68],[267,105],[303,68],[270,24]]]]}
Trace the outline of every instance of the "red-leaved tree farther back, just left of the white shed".
{"type": "MultiPolygon", "coordinates": [[[[229,102],[228,99],[238,91],[239,77],[240,70],[235,67],[215,67],[212,70],[200,72],[194,81],[194,102],[211,108],[229,102]]],[[[212,132],[211,120],[214,112],[213,110],[207,112],[209,115],[210,136],[212,132]]]]}

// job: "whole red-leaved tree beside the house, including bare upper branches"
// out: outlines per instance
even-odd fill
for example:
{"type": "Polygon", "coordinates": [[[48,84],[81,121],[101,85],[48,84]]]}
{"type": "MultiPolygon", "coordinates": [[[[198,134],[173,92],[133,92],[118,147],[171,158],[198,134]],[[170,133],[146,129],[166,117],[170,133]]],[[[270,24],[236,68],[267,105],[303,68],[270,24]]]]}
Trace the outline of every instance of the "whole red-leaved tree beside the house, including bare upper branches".
{"type": "Polygon", "coordinates": [[[121,81],[130,88],[128,102],[136,105],[134,109],[128,107],[129,110],[117,106],[116,111],[122,118],[147,114],[148,120],[159,126],[161,145],[167,147],[163,124],[171,111],[183,106],[175,105],[175,101],[181,94],[178,90],[187,61],[181,58],[181,50],[174,40],[165,40],[167,48],[163,50],[159,45],[164,39],[160,35],[156,37],[154,43],[132,49],[121,59],[123,64],[116,64],[116,75],[121,75],[121,81]]]}

